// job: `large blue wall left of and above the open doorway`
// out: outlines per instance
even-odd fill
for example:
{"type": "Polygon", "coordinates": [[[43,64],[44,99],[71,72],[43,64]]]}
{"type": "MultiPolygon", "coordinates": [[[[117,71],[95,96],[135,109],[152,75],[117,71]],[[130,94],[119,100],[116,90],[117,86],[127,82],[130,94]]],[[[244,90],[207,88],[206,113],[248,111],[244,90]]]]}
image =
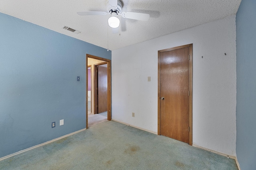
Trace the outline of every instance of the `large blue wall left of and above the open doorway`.
{"type": "Polygon", "coordinates": [[[86,54],[111,59],[111,51],[0,13],[0,158],[86,127],[86,54]]]}

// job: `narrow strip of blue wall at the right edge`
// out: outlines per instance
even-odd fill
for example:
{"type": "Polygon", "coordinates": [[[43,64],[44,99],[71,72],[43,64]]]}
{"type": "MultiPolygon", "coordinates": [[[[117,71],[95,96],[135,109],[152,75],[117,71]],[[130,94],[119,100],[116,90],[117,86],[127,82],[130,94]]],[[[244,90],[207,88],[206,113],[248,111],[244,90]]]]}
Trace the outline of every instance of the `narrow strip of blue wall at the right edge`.
{"type": "Polygon", "coordinates": [[[236,14],[236,156],[242,170],[256,170],[256,0],[242,0],[236,14]]]}

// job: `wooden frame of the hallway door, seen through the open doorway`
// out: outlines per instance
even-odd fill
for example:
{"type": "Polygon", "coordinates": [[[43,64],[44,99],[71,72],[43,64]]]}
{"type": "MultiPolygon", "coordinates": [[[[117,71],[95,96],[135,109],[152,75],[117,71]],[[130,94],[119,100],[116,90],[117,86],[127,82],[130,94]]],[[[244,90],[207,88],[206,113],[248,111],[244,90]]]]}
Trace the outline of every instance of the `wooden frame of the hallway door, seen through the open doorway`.
{"type": "Polygon", "coordinates": [[[98,63],[98,64],[94,64],[94,114],[97,114],[98,113],[98,89],[97,89],[97,86],[98,86],[98,74],[97,74],[97,71],[98,71],[98,66],[100,65],[104,65],[104,64],[108,64],[107,62],[102,62],[102,63],[98,63]],[[97,93],[96,93],[97,92],[97,93]]]}

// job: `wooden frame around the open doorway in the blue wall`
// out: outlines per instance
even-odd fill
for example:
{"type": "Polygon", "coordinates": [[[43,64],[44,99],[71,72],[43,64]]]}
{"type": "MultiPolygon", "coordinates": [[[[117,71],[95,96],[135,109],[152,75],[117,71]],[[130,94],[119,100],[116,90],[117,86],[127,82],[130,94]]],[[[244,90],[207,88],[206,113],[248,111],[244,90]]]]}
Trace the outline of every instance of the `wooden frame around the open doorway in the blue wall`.
{"type": "MultiPolygon", "coordinates": [[[[112,101],[111,101],[111,60],[109,59],[104,59],[101,57],[97,57],[94,55],[89,55],[86,54],[86,68],[87,68],[87,63],[88,63],[88,58],[91,59],[96,59],[96,60],[101,60],[107,62],[107,68],[108,68],[108,120],[112,119],[112,114],[111,114],[111,106],[112,106],[112,101]]],[[[88,69],[86,69],[86,129],[88,128],[88,69]]]]}

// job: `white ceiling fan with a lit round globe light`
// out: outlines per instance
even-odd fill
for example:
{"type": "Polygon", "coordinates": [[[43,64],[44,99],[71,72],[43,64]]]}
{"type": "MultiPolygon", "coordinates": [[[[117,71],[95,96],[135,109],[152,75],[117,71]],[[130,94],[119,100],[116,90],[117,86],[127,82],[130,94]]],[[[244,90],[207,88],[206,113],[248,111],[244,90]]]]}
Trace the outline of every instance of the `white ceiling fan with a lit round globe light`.
{"type": "Polygon", "coordinates": [[[110,18],[108,18],[108,25],[113,29],[119,27],[120,20],[117,18],[118,15],[122,15],[123,18],[141,20],[141,21],[148,21],[150,18],[149,14],[143,14],[143,13],[137,13],[137,12],[122,12],[121,0],[108,0],[106,8],[107,8],[107,12],[84,11],[84,12],[77,12],[77,14],[80,16],[111,15],[110,18]]]}

